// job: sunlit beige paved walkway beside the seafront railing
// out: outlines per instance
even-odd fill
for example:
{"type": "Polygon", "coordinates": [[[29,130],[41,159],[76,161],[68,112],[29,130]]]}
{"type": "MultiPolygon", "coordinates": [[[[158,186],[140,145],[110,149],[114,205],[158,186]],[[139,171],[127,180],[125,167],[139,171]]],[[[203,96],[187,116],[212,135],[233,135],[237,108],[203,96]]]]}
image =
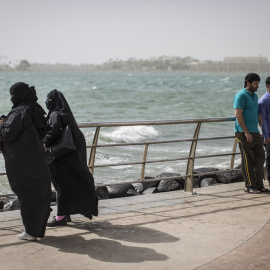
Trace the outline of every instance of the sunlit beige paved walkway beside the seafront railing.
{"type": "Polygon", "coordinates": [[[99,217],[75,216],[37,242],[16,239],[19,211],[0,213],[0,269],[270,269],[270,194],[243,183],[195,191],[103,200],[99,217]]]}

